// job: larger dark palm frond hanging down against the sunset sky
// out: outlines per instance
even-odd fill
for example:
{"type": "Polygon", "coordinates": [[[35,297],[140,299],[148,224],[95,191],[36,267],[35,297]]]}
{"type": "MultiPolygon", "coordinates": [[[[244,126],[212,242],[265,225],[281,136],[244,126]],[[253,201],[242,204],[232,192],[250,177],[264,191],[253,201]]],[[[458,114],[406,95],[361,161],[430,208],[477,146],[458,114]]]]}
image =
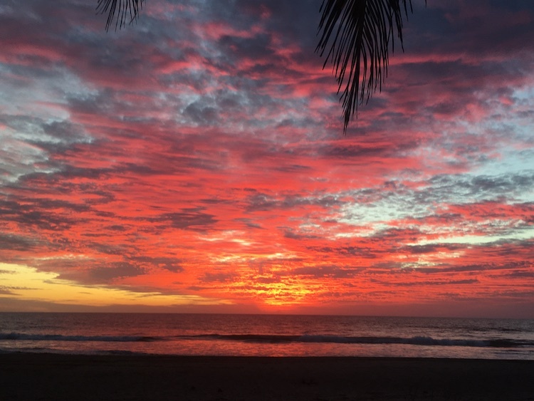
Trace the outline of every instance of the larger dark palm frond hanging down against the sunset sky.
{"type": "Polygon", "coordinates": [[[357,113],[358,105],[369,101],[387,76],[389,43],[394,51],[393,30],[402,42],[402,14],[408,16],[412,0],[323,0],[316,52],[326,53],[323,68],[330,62],[337,78],[337,93],[343,88],[340,102],[344,127],[357,113]]]}

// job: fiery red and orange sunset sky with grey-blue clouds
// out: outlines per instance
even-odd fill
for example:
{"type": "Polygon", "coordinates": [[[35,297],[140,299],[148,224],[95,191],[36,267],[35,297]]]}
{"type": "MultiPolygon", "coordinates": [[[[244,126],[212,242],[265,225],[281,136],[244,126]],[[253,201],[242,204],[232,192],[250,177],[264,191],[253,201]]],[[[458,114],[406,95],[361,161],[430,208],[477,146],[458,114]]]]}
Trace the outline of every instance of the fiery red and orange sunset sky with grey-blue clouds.
{"type": "Polygon", "coordinates": [[[414,0],[343,135],[321,0],[0,5],[0,311],[534,318],[534,2],[414,0]]]}

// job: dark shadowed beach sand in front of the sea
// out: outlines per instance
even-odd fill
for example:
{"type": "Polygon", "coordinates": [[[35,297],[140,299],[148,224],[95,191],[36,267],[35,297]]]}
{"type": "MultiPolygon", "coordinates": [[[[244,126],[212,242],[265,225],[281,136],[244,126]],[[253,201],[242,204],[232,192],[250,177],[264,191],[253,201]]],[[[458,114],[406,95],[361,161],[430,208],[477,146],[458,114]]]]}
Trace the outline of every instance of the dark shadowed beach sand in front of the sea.
{"type": "Polygon", "coordinates": [[[0,400],[534,400],[534,361],[13,353],[0,400]]]}

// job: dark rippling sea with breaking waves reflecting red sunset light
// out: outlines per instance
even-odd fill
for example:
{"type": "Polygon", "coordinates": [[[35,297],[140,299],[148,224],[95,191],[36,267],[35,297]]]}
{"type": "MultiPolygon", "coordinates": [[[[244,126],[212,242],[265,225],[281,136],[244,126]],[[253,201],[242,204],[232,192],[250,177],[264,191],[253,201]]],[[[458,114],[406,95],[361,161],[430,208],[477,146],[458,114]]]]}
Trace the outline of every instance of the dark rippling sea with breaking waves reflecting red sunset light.
{"type": "Polygon", "coordinates": [[[0,313],[0,353],[534,360],[534,320],[0,313]]]}

